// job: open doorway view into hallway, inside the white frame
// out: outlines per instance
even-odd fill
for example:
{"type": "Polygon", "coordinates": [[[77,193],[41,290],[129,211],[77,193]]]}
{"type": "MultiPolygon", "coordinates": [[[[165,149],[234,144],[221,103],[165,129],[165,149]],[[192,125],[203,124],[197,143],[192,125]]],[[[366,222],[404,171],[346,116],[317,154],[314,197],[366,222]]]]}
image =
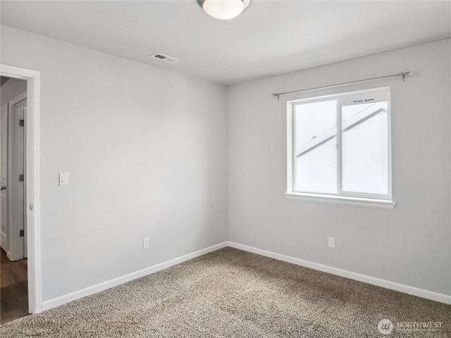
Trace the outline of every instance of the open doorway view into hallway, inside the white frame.
{"type": "Polygon", "coordinates": [[[0,77],[0,323],[28,311],[25,217],[27,82],[0,77]]]}

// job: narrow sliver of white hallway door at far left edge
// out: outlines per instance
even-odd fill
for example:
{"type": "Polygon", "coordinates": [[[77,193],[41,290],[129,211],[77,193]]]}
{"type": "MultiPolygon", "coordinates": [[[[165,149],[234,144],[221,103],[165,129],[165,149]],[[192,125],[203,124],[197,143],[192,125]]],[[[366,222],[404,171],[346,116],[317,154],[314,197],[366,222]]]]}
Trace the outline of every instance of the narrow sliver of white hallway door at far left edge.
{"type": "Polygon", "coordinates": [[[8,222],[6,182],[8,175],[8,105],[1,107],[0,115],[0,246],[8,252],[8,222]]]}

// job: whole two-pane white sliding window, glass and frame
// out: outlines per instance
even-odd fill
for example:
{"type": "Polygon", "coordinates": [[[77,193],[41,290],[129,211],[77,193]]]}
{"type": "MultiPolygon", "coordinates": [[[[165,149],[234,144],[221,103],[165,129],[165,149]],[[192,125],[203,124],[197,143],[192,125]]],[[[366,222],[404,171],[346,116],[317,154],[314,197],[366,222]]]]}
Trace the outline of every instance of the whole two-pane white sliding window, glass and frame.
{"type": "Polygon", "coordinates": [[[388,87],[288,101],[287,193],[393,208],[388,87]]]}

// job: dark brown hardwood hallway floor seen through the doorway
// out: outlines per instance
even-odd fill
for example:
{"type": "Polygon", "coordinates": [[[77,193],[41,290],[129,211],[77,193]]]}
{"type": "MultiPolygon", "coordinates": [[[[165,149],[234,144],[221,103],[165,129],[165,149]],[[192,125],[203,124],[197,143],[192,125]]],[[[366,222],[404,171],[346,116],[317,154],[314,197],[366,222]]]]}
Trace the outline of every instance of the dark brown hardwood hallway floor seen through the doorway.
{"type": "Polygon", "coordinates": [[[28,315],[27,259],[11,262],[0,249],[0,323],[28,315]]]}

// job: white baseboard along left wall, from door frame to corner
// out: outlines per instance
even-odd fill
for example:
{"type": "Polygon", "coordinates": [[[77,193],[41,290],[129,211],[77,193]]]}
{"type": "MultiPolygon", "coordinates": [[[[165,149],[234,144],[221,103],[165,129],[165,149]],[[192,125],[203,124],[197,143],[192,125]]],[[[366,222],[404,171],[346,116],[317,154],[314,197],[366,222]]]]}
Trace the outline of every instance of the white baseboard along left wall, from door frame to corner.
{"type": "Polygon", "coordinates": [[[48,301],[43,301],[42,311],[49,310],[50,308],[55,308],[56,306],[63,305],[70,301],[75,301],[75,299],[80,299],[82,297],[89,296],[90,294],[95,294],[97,292],[104,291],[106,289],[109,289],[110,287],[116,287],[117,285],[129,282],[130,280],[135,280],[137,278],[149,275],[151,273],[156,273],[157,271],[169,268],[172,265],[183,263],[185,261],[189,261],[192,258],[202,256],[211,251],[222,249],[226,247],[227,244],[228,244],[227,242],[223,242],[213,246],[209,246],[208,248],[194,251],[192,253],[188,253],[187,255],[180,256],[178,258],[173,258],[170,261],[152,265],[149,268],[144,268],[142,270],[135,271],[134,273],[129,273],[128,275],[114,278],[113,280],[107,280],[106,282],[101,282],[99,284],[92,285],[92,287],[86,287],[85,289],[71,292],[70,294],[65,294],[63,296],[59,296],[54,299],[49,299],[48,301]]]}

